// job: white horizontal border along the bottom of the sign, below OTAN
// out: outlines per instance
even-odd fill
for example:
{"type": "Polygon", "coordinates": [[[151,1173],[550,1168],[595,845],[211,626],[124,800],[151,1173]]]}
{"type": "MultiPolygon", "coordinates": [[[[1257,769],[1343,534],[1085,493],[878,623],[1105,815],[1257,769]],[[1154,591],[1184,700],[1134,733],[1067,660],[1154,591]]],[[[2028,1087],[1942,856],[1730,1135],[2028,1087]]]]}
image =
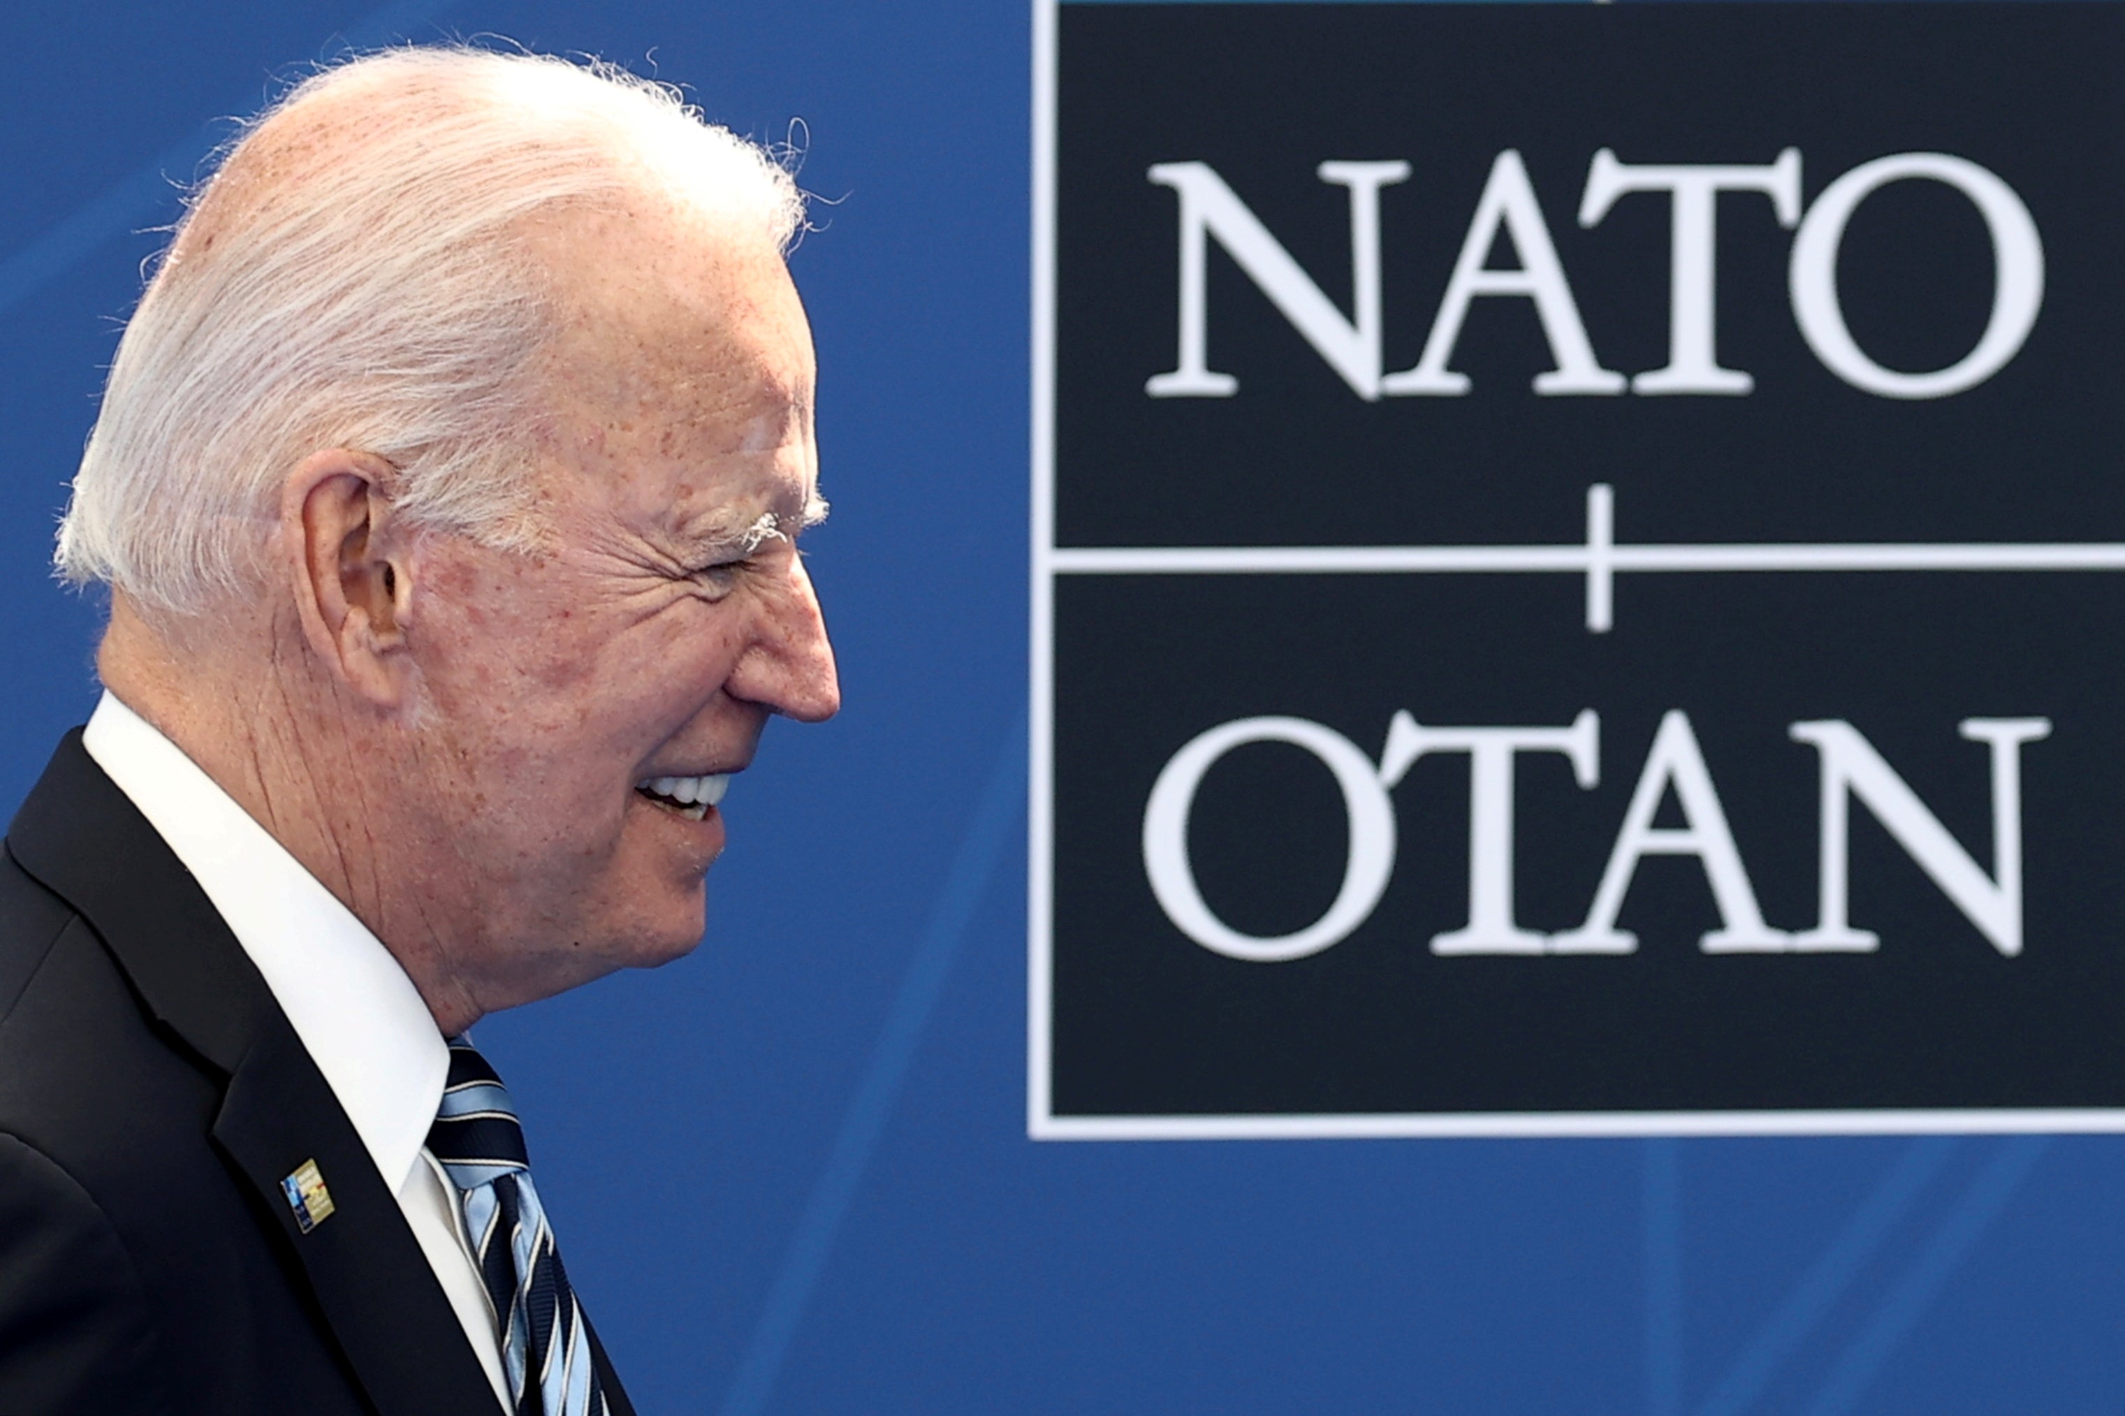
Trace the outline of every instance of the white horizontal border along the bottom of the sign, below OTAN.
{"type": "Polygon", "coordinates": [[[1613,1135],[2119,1133],[2125,1108],[1874,1112],[1447,1112],[1311,1116],[1035,1116],[1033,1140],[1424,1140],[1613,1135]]]}

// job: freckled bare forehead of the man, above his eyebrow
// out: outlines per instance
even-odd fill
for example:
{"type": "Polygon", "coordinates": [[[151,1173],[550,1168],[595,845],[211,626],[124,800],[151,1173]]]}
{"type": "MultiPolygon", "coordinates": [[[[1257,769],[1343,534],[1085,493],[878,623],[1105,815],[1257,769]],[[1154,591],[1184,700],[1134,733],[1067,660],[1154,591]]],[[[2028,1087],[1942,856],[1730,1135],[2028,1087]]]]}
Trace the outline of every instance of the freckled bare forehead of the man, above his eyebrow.
{"type": "Polygon", "coordinates": [[[538,240],[559,323],[542,421],[561,461],[676,521],[801,512],[812,332],[780,253],[644,213],[586,215],[538,240]]]}

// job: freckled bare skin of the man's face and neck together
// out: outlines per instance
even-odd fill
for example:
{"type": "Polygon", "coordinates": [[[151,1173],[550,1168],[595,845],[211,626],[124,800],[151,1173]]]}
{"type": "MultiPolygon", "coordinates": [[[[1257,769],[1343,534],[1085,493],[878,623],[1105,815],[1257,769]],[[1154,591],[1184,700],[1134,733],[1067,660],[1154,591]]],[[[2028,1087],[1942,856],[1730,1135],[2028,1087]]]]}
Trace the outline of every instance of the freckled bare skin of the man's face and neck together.
{"type": "MultiPolygon", "coordinates": [[[[102,651],[106,685],[376,931],[444,1031],[688,953],[720,812],[684,821],[635,782],[740,770],[769,714],[839,706],[793,540],[814,359],[780,255],[659,210],[576,215],[533,251],[567,272],[531,429],[538,553],[385,512],[346,555],[391,559],[372,619],[397,638],[274,595],[202,636],[119,595],[102,651]],[[780,534],[748,551],[769,512],[780,534]]],[[[285,512],[289,563],[302,534],[285,512]]]]}

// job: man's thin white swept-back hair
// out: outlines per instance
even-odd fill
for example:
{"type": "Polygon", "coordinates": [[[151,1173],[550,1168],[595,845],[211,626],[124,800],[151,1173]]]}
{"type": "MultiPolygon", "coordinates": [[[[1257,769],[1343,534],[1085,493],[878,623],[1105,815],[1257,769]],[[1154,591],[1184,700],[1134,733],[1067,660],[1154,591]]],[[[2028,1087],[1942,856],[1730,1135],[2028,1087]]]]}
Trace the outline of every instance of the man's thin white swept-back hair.
{"type": "Polygon", "coordinates": [[[769,151],[601,64],[372,53],[289,89],[187,204],[125,325],[57,568],[142,606],[244,587],[304,457],[397,470],[410,523],[529,546],[523,427],[552,334],[538,213],[648,196],[786,251],[803,198],[769,151]]]}

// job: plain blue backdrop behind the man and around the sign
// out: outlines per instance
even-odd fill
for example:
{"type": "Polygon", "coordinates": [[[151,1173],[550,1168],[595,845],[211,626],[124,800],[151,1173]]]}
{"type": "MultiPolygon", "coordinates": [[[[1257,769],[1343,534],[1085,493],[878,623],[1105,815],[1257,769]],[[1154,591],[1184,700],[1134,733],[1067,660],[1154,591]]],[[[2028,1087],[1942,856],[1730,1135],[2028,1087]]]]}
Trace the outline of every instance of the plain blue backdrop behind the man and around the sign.
{"type": "Polygon", "coordinates": [[[2087,1412],[2108,1137],[1024,1137],[1024,4],[15,0],[0,64],[0,797],[94,702],[47,572],[174,185],[274,74],[495,32],[808,125],[795,257],[848,706],[769,731],[710,938],[499,1016],[646,1412],[2087,1412]]]}

